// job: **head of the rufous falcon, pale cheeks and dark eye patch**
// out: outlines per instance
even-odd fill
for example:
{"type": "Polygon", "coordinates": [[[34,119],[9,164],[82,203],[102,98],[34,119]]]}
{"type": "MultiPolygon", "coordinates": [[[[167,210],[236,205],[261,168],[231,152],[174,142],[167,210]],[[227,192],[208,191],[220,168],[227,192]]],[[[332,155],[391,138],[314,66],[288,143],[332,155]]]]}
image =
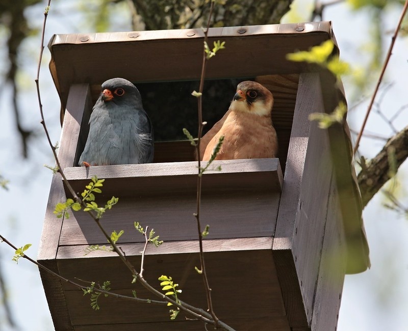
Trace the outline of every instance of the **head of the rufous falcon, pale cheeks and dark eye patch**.
{"type": "Polygon", "coordinates": [[[237,93],[231,102],[235,111],[256,114],[259,116],[270,115],[273,105],[272,93],[256,81],[241,81],[237,86],[237,93]]]}

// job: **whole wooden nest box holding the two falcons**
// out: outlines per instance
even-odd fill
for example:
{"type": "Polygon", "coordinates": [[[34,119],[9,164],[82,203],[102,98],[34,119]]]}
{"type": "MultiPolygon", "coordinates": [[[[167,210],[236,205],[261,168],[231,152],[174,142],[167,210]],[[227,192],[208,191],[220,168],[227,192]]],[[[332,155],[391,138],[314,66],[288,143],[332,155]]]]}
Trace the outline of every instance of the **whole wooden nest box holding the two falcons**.
{"type": "MultiPolygon", "coordinates": [[[[222,171],[203,176],[202,224],[208,277],[217,316],[237,330],[335,330],[345,273],[369,265],[362,207],[352,167],[346,123],[320,129],[309,114],[331,113],[344,101],[335,78],[286,54],[331,39],[330,22],[213,28],[209,39],[225,41],[207,66],[203,118],[207,129],[222,117],[237,83],[257,80],[274,95],[272,120],[278,158],[216,161],[222,171]]],[[[55,35],[50,70],[62,103],[59,158],[78,192],[90,178],[105,178],[101,204],[119,203],[101,224],[124,230],[119,245],[139,268],[144,237],[134,222],[154,228],[164,243],[148,246],[144,276],[160,290],[158,277],[173,278],[181,299],[207,309],[199,267],[193,213],[197,164],[182,129],[196,135],[203,32],[144,31],[55,35]],[[107,79],[123,77],[138,87],[155,128],[150,164],[77,167],[92,106],[107,79]]],[[[338,52],[337,46],[335,52],[338,52]]],[[[57,218],[69,197],[54,175],[38,260],[63,277],[102,284],[112,291],[156,299],[138,284],[114,253],[85,255],[88,245],[107,244],[85,212],[57,218]]],[[[183,313],[175,321],[166,306],[111,296],[90,297],[40,269],[57,330],[202,330],[183,313]]],[[[84,283],[86,285],[86,283],[84,283]]]]}

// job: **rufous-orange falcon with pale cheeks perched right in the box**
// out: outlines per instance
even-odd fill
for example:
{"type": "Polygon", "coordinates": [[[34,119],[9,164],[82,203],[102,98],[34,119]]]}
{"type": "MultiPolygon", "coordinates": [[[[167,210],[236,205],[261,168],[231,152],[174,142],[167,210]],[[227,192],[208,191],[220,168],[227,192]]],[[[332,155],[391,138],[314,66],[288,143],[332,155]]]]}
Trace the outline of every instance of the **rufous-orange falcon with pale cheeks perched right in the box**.
{"type": "Polygon", "coordinates": [[[230,108],[203,135],[200,156],[208,161],[219,138],[224,136],[216,160],[276,157],[278,143],[272,125],[272,93],[256,81],[242,81],[230,108]]]}

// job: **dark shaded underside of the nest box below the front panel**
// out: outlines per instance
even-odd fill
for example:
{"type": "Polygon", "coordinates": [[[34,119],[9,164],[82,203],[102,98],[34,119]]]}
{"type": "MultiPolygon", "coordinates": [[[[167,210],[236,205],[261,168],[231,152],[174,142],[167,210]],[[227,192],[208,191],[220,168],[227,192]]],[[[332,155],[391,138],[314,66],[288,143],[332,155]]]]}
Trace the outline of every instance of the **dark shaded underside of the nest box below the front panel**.
{"type": "MultiPolygon", "coordinates": [[[[130,257],[130,260],[136,266],[140,264],[140,257],[130,257]]],[[[149,256],[145,263],[145,278],[152,285],[159,284],[158,275],[171,275],[183,290],[182,300],[206,308],[202,278],[194,270],[199,263],[197,254],[149,256]]],[[[65,277],[99,283],[109,279],[116,293],[132,295],[132,289],[136,289],[138,297],[152,298],[138,283],[131,284],[132,275],[118,258],[59,260],[58,265],[65,277]]],[[[235,323],[239,323],[240,319],[253,319],[254,316],[285,317],[271,250],[209,252],[206,253],[206,265],[214,309],[220,318],[236,319],[235,323]],[[231,295],[236,292],[239,295],[231,295]]],[[[82,291],[66,290],[65,295],[74,325],[168,321],[166,306],[132,304],[104,297],[99,302],[101,310],[95,314],[89,298],[84,297],[82,291]]]]}

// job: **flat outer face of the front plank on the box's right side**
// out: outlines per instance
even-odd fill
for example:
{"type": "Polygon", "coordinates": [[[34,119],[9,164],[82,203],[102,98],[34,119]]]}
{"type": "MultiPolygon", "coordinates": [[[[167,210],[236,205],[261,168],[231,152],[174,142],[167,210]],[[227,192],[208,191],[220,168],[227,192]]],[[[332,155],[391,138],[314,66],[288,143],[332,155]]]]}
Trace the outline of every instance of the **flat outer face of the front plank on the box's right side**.
{"type": "MultiPolygon", "coordinates": [[[[318,82],[317,85],[319,86],[318,82]]],[[[319,94],[315,94],[314,97],[319,99],[319,94]]],[[[322,104],[317,105],[316,111],[323,111],[322,104]]],[[[330,160],[327,130],[318,128],[317,122],[312,122],[309,133],[292,252],[295,256],[300,289],[310,324],[333,166],[330,160]]]]}

